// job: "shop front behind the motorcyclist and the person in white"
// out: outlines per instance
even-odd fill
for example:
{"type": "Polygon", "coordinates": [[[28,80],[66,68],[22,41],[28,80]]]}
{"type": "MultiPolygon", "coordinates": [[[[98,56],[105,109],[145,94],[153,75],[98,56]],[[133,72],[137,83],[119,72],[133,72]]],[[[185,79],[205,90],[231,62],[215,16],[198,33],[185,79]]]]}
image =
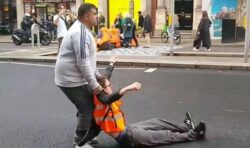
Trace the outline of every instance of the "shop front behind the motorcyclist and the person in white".
{"type": "Polygon", "coordinates": [[[66,9],[76,14],[75,0],[23,0],[24,13],[36,16],[38,22],[45,22],[49,16],[57,13],[58,5],[64,5],[66,9]]]}

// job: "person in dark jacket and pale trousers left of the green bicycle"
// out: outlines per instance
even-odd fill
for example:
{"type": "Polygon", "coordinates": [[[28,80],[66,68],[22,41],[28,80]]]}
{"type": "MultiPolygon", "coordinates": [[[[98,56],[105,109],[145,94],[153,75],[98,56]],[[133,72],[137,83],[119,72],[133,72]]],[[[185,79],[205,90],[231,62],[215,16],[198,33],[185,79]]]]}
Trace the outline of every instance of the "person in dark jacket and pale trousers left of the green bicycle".
{"type": "Polygon", "coordinates": [[[150,47],[150,34],[152,32],[152,22],[151,22],[151,17],[148,15],[148,13],[145,11],[144,12],[144,33],[146,36],[146,40],[147,40],[147,46],[144,46],[145,48],[149,48],[150,47]]]}

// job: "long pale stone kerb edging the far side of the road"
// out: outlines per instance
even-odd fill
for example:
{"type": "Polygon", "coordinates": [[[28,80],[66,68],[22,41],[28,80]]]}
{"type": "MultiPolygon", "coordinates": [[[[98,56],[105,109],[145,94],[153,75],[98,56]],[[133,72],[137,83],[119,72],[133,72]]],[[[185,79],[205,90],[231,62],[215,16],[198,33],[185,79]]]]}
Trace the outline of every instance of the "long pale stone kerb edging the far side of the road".
{"type": "MultiPolygon", "coordinates": [[[[46,59],[46,58],[9,58],[0,57],[0,61],[9,62],[45,62],[45,63],[55,63],[56,59],[46,59]]],[[[101,59],[97,61],[98,65],[107,65],[108,60],[101,59]]],[[[130,62],[130,61],[120,61],[117,62],[117,66],[133,66],[133,67],[154,67],[154,68],[188,68],[188,69],[214,69],[214,70],[240,70],[240,71],[250,71],[250,64],[248,63],[197,63],[197,62],[130,62]]]]}

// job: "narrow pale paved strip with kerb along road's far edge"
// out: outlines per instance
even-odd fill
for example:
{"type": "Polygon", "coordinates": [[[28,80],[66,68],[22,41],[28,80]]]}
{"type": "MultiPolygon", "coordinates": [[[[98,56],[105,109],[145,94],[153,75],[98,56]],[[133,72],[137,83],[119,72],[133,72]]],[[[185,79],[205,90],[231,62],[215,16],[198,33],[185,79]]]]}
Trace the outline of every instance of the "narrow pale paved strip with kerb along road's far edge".
{"type": "MultiPolygon", "coordinates": [[[[196,54],[196,53],[194,53],[196,54]]],[[[212,54],[212,53],[203,53],[212,54]]],[[[216,54],[216,53],[215,53],[216,54]]],[[[231,53],[232,54],[232,53],[231,53]]],[[[236,54],[236,53],[233,53],[236,54]]],[[[107,64],[115,54],[97,55],[98,64],[107,64]]],[[[117,65],[140,67],[197,68],[250,71],[250,64],[243,63],[243,57],[218,56],[161,56],[161,55],[119,55],[117,65]]],[[[0,61],[52,62],[56,61],[56,50],[18,50],[0,53],[0,61]]]]}

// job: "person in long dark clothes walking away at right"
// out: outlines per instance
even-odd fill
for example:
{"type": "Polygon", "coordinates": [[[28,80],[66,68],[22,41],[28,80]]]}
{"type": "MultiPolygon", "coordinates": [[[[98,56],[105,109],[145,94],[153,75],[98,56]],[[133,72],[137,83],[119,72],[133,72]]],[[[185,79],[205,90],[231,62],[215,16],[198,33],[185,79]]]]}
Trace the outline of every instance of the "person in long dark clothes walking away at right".
{"type": "Polygon", "coordinates": [[[199,50],[199,48],[201,46],[201,42],[202,42],[203,47],[206,47],[207,51],[211,51],[211,49],[210,49],[211,37],[210,37],[210,30],[209,30],[211,24],[212,24],[212,22],[208,18],[207,11],[202,11],[202,18],[201,18],[201,21],[199,23],[198,32],[196,34],[194,44],[193,44],[194,51],[199,50]]]}

